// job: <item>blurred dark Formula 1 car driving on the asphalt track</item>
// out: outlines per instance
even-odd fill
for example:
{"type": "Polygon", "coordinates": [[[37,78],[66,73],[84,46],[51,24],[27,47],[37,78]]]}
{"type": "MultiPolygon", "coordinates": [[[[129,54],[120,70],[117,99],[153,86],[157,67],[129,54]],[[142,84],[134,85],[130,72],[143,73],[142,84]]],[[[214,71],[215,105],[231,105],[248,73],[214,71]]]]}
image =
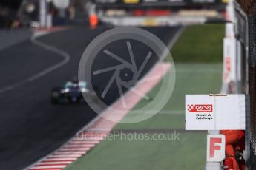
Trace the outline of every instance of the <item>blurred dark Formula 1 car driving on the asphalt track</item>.
{"type": "Polygon", "coordinates": [[[68,81],[51,92],[51,103],[85,103],[85,98],[96,102],[96,92],[87,88],[84,81],[68,81]]]}

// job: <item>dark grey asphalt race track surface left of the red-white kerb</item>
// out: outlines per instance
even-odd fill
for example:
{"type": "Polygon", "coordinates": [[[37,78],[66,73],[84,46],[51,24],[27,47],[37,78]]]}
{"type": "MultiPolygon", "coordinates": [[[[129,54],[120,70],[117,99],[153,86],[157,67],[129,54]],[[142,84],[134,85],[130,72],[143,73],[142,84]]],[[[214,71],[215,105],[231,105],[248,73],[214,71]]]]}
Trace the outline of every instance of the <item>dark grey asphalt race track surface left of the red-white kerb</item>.
{"type": "MultiPolygon", "coordinates": [[[[79,60],[85,47],[99,33],[99,27],[69,27],[38,38],[70,55],[70,61],[59,69],[21,86],[0,93],[0,169],[24,169],[39,158],[53,152],[92,120],[96,113],[85,104],[50,103],[50,91],[77,75],[79,60]]],[[[145,28],[168,44],[179,27],[145,28]]],[[[122,47],[115,48],[122,50],[122,47]]],[[[140,48],[143,53],[143,49],[140,48]]],[[[24,41],[0,51],[0,91],[36,75],[62,61],[58,54],[24,41]]],[[[106,64],[102,61],[99,65],[106,64]]],[[[154,62],[152,62],[153,64],[154,62]]],[[[151,68],[148,64],[145,72],[151,68]]],[[[96,81],[99,86],[101,81],[96,81]]],[[[112,90],[110,103],[119,97],[112,90]]]]}

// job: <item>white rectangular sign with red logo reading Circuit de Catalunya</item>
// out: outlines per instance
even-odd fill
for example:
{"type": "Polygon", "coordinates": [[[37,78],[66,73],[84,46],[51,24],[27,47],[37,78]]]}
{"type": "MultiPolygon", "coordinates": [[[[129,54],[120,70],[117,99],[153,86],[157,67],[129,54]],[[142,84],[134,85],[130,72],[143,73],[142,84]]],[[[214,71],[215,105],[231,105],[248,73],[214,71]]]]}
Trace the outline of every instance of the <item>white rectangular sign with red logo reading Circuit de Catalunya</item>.
{"type": "Polygon", "coordinates": [[[186,95],[186,130],[244,130],[246,95],[186,95]]]}

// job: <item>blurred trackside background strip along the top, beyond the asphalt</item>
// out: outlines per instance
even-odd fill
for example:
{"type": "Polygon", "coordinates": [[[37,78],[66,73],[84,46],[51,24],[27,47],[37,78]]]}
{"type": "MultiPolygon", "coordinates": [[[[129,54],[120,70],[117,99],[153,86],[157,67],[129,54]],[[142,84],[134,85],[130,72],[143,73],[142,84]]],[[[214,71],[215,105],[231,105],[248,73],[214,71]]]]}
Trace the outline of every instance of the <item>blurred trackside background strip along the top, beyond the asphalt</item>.
{"type": "Polygon", "coordinates": [[[226,17],[226,1],[221,0],[3,0],[0,3],[2,28],[86,24],[90,18],[88,16],[93,13],[100,18],[100,21],[130,26],[200,23],[205,21],[205,18],[208,18],[208,21],[224,21],[226,17]],[[145,16],[158,18],[155,18],[156,21],[153,21],[154,19],[142,21],[145,16]]]}

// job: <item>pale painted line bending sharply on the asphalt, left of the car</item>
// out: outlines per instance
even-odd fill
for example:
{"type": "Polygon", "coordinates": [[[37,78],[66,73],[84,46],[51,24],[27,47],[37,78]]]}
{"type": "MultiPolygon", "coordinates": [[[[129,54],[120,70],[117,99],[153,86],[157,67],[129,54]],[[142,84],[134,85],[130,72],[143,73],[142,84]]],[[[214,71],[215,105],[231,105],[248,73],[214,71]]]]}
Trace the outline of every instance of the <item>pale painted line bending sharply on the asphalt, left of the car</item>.
{"type": "Polygon", "coordinates": [[[57,55],[62,56],[63,60],[60,61],[60,62],[57,63],[57,64],[54,64],[54,65],[51,66],[51,67],[48,67],[47,69],[42,70],[41,72],[36,73],[36,75],[32,75],[32,76],[30,76],[29,78],[24,79],[23,81],[20,81],[20,82],[15,83],[15,84],[11,84],[11,85],[9,85],[9,86],[6,86],[6,87],[0,89],[0,94],[1,94],[1,93],[4,93],[4,92],[7,92],[7,91],[10,91],[11,89],[14,89],[14,88],[16,88],[16,87],[22,86],[22,85],[24,85],[24,84],[27,84],[27,83],[29,83],[29,82],[31,82],[31,81],[35,81],[36,79],[41,78],[41,77],[47,75],[48,73],[53,72],[53,71],[56,70],[56,69],[59,69],[59,67],[64,66],[65,64],[68,63],[68,61],[70,61],[70,55],[68,54],[68,52],[65,52],[64,50],[60,50],[60,49],[58,49],[58,48],[56,48],[56,47],[50,46],[50,45],[48,45],[48,44],[45,44],[45,43],[43,43],[43,42],[41,42],[41,41],[36,40],[36,35],[33,35],[33,36],[30,38],[30,41],[31,41],[33,44],[35,44],[35,45],[37,45],[37,46],[39,46],[39,47],[42,47],[42,48],[45,49],[45,50],[54,52],[54,53],[56,53],[57,55]]]}

